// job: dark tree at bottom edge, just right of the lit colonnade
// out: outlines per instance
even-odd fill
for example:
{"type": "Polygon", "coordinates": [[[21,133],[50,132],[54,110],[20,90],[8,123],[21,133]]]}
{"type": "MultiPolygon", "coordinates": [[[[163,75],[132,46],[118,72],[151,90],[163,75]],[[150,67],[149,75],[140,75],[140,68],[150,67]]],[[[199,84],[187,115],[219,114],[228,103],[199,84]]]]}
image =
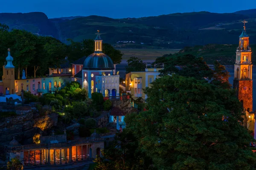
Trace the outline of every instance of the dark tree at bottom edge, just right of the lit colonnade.
{"type": "Polygon", "coordinates": [[[154,170],[152,159],[140,150],[137,138],[131,131],[116,133],[113,144],[97,156],[95,170],[154,170]]]}

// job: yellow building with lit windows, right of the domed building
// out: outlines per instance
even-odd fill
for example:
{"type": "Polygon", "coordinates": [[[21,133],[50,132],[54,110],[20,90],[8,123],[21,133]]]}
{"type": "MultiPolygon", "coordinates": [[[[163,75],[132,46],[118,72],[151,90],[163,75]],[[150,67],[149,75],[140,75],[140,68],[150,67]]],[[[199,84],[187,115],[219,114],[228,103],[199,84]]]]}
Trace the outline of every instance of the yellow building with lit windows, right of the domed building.
{"type": "Polygon", "coordinates": [[[159,70],[162,68],[145,68],[145,71],[130,72],[125,75],[125,91],[134,96],[135,99],[142,97],[146,99],[143,89],[150,86],[156,78],[159,78],[159,70]]]}

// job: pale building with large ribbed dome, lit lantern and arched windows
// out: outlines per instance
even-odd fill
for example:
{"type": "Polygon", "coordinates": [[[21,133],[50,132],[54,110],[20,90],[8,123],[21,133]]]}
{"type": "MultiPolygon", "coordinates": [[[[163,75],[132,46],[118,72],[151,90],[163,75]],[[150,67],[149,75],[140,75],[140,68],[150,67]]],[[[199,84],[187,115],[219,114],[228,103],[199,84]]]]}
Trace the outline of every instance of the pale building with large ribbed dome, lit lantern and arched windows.
{"type": "Polygon", "coordinates": [[[74,76],[75,81],[79,82],[82,88],[87,89],[89,98],[93,92],[102,93],[104,97],[119,97],[119,75],[115,75],[112,59],[102,52],[99,31],[94,42],[94,53],[85,59],[81,58],[84,62],[82,69],[74,76]]]}

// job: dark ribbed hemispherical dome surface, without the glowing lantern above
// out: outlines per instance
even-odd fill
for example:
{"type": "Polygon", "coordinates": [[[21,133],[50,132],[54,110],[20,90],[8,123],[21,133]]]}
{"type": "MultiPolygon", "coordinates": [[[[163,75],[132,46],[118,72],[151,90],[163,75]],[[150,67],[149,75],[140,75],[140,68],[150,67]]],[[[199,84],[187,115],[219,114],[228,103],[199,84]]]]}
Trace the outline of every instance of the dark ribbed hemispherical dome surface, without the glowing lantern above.
{"type": "Polygon", "coordinates": [[[84,60],[83,69],[85,70],[113,70],[112,59],[104,53],[90,54],[84,60]]]}

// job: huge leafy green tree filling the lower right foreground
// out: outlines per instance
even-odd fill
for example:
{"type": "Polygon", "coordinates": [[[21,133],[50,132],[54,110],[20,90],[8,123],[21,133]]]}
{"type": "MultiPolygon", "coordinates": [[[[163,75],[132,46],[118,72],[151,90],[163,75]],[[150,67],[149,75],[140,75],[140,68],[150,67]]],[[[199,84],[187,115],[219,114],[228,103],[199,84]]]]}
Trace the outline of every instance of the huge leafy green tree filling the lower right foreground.
{"type": "Polygon", "coordinates": [[[145,89],[148,111],[125,117],[142,150],[164,170],[253,170],[253,137],[233,89],[164,76],[145,89]]]}

